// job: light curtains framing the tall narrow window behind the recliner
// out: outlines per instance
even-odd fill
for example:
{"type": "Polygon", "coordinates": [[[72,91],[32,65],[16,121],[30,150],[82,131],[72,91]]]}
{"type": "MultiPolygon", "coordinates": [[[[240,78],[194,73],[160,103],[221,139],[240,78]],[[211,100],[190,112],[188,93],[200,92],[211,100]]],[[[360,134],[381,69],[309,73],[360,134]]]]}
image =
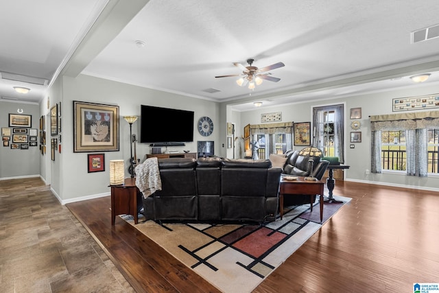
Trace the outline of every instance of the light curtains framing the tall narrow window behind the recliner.
{"type": "Polygon", "coordinates": [[[333,110],[334,121],[334,152],[340,163],[344,163],[344,106],[343,104],[313,108],[313,145],[320,150],[324,149],[323,137],[323,114],[325,111],[333,110]]]}

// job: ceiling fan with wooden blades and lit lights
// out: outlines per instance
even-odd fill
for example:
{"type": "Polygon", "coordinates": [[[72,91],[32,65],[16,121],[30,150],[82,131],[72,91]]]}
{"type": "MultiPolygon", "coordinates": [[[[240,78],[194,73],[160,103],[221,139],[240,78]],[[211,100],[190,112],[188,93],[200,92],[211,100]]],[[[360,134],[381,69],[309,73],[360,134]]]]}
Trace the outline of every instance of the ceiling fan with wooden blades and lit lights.
{"type": "Polygon", "coordinates": [[[244,65],[241,65],[241,63],[235,62],[233,65],[236,67],[239,67],[242,70],[242,74],[229,74],[229,75],[219,75],[215,76],[215,78],[229,78],[231,76],[241,76],[236,83],[239,86],[246,85],[248,82],[248,89],[254,89],[256,85],[259,86],[263,82],[263,80],[269,80],[270,82],[278,82],[281,80],[280,78],[274,78],[272,76],[269,76],[271,73],[264,73],[266,71],[270,71],[272,69],[276,69],[279,67],[284,67],[285,64],[283,62],[277,62],[272,65],[269,65],[267,67],[263,67],[261,69],[252,66],[254,60],[248,59],[248,67],[245,67],[244,65]]]}

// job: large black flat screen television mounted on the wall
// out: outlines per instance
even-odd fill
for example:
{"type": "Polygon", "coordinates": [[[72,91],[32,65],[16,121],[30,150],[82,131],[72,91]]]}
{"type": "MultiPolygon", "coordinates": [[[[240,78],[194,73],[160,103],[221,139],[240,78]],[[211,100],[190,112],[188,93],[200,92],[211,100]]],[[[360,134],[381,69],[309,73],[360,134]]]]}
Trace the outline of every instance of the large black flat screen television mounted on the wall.
{"type": "Polygon", "coordinates": [[[141,105],[141,143],[193,141],[193,111],[141,105]]]}

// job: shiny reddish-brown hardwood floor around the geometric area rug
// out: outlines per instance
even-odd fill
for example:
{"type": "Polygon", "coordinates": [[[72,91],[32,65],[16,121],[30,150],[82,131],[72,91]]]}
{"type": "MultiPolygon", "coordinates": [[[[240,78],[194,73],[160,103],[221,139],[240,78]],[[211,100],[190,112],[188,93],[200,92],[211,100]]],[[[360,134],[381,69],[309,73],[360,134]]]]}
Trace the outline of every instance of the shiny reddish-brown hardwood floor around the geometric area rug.
{"type": "MultiPolygon", "coordinates": [[[[334,194],[353,200],[254,292],[412,292],[439,282],[439,192],[337,181],[334,194]]],[[[138,292],[217,292],[130,224],[112,227],[110,197],[67,207],[138,292]]]]}

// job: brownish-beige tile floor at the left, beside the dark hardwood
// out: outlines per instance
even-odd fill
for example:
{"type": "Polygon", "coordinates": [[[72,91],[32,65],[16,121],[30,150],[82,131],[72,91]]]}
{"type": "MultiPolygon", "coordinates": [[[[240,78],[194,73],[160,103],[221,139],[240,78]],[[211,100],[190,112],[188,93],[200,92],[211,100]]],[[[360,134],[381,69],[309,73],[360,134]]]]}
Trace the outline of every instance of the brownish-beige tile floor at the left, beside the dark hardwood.
{"type": "Polygon", "coordinates": [[[0,292],[134,292],[40,178],[0,180],[0,292]]]}

